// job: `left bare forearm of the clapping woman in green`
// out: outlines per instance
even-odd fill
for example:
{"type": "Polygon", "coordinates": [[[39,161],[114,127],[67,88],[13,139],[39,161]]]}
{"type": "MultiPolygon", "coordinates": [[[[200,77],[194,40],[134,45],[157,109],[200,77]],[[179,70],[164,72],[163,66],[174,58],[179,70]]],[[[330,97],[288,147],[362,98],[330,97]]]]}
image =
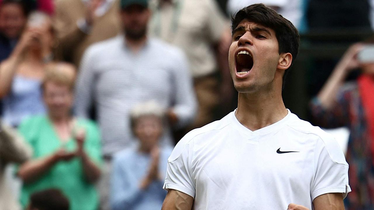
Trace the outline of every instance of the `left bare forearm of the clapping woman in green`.
{"type": "Polygon", "coordinates": [[[33,182],[42,176],[47,170],[49,170],[56,163],[55,155],[50,155],[48,157],[30,160],[22,164],[18,176],[25,182],[33,182]]]}

